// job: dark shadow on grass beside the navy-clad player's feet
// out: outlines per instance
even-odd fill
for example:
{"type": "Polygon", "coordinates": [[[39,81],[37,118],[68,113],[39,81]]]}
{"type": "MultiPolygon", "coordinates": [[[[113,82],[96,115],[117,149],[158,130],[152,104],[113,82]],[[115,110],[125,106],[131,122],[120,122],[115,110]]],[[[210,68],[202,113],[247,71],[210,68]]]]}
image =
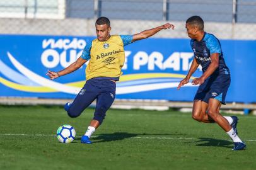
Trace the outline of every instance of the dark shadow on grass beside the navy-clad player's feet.
{"type": "Polygon", "coordinates": [[[198,143],[197,146],[212,146],[212,147],[227,147],[227,148],[232,148],[231,144],[233,144],[233,142],[230,142],[228,140],[212,139],[212,138],[206,138],[206,137],[201,137],[199,138],[199,140],[193,143],[198,143]]]}

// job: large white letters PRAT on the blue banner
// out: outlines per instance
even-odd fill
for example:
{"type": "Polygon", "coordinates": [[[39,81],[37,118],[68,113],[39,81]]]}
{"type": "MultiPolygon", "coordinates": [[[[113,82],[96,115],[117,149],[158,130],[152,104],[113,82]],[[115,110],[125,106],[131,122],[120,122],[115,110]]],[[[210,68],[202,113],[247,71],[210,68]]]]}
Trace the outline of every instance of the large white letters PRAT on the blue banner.
{"type": "Polygon", "coordinates": [[[180,63],[182,63],[182,71],[188,71],[191,63],[189,60],[194,56],[192,52],[173,52],[166,60],[160,52],[152,52],[148,55],[146,52],[137,52],[133,57],[133,69],[139,70],[142,66],[148,65],[148,70],[153,71],[155,67],[158,69],[173,69],[180,71],[180,63]]]}

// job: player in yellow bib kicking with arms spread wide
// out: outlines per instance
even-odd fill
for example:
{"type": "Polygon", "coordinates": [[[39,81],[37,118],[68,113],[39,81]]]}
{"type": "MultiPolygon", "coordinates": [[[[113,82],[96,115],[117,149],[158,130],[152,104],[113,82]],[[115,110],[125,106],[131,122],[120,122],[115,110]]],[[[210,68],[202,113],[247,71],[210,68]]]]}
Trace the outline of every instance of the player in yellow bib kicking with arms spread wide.
{"type": "Polygon", "coordinates": [[[95,132],[105,118],[106,111],[115,99],[115,81],[122,75],[125,55],[124,46],[129,43],[151,37],[161,30],[174,29],[170,23],[142,31],[135,35],[110,35],[110,21],[100,17],[95,23],[97,38],[84,47],[83,54],[76,62],[59,72],[48,71],[50,79],[64,76],[79,69],[90,60],[86,67],[86,83],[74,101],[67,103],[64,108],[72,118],[81,115],[83,110],[96,99],[93,120],[81,137],[81,143],[91,144],[91,134],[95,132]]]}

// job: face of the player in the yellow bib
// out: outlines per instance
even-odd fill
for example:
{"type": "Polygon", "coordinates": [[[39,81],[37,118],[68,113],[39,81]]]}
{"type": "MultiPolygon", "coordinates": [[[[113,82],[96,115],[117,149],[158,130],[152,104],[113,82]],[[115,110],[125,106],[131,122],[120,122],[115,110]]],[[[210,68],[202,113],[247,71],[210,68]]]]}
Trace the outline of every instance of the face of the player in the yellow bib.
{"type": "Polygon", "coordinates": [[[108,26],[107,24],[103,24],[103,25],[96,25],[96,35],[97,38],[100,42],[104,42],[105,40],[108,40],[108,38],[110,37],[110,30],[111,27],[108,26]]]}

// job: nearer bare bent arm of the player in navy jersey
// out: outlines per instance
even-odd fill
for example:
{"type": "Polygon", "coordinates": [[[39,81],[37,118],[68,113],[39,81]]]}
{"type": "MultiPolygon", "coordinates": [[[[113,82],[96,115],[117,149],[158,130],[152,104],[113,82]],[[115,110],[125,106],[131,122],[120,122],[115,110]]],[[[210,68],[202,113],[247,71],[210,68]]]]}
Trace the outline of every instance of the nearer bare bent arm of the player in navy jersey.
{"type": "Polygon", "coordinates": [[[219,67],[219,54],[218,53],[213,53],[211,54],[211,64],[209,65],[209,67],[207,68],[206,72],[204,72],[204,74],[202,74],[201,77],[194,79],[192,81],[193,85],[201,85],[202,83],[204,83],[204,81],[207,79],[207,77],[211,76],[211,74],[216,71],[216,69],[219,67]]]}

